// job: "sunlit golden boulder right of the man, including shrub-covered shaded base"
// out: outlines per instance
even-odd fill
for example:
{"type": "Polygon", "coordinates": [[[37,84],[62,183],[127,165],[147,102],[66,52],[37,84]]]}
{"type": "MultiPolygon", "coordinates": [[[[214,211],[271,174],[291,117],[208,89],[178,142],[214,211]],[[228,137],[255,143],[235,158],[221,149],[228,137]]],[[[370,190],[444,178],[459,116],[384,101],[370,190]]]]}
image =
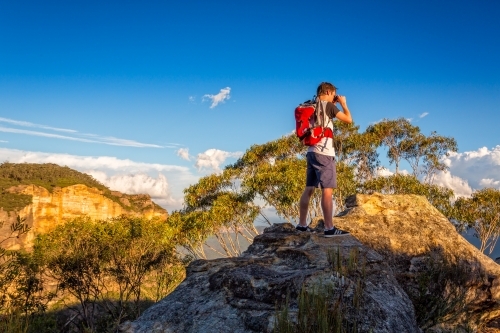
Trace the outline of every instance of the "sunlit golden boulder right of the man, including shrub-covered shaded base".
{"type": "Polygon", "coordinates": [[[495,325],[500,266],[463,238],[425,197],[356,195],[346,206],[335,224],[384,256],[412,299],[421,326],[441,323],[432,329],[453,331],[495,325]]]}

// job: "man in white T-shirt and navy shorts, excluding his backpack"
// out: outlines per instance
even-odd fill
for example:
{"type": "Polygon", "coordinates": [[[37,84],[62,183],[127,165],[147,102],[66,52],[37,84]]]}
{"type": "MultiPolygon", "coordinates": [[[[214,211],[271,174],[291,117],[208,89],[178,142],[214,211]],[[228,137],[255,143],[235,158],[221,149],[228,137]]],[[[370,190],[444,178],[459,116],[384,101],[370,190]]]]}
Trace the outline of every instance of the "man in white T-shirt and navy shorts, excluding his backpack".
{"type": "MultiPolygon", "coordinates": [[[[329,83],[322,82],[316,90],[318,103],[326,115],[333,119],[337,118],[345,123],[352,123],[351,112],[347,107],[345,96],[337,95],[337,88],[329,83]],[[339,103],[342,112],[335,105],[339,103]]],[[[320,107],[318,104],[317,107],[320,107]]],[[[327,124],[333,131],[333,123],[327,124]]],[[[310,146],[307,150],[307,174],[306,188],[300,197],[300,218],[297,230],[308,231],[306,223],[309,201],[314,190],[321,188],[321,209],[323,210],[323,220],[325,221],[325,237],[348,235],[347,231],[337,229],[333,226],[333,189],[337,187],[337,170],[335,165],[335,149],[333,148],[333,139],[324,137],[317,144],[310,146]]]]}

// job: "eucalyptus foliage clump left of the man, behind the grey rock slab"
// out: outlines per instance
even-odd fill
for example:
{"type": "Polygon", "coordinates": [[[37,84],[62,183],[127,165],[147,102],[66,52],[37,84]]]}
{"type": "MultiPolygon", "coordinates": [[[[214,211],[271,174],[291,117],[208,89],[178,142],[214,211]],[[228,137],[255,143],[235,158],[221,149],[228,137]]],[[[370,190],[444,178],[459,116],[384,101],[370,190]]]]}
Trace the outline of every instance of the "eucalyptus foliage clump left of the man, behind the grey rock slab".
{"type": "Polygon", "coordinates": [[[185,189],[185,208],[169,217],[180,243],[194,257],[205,258],[207,247],[221,256],[239,255],[239,239],[251,241],[257,234],[257,215],[266,218],[263,207],[275,207],[286,219],[298,215],[304,153],[294,136],[254,145],[221,174],[203,177],[185,189]],[[263,206],[256,204],[259,200],[263,206]],[[217,238],[222,252],[206,243],[210,236],[217,238]]]}

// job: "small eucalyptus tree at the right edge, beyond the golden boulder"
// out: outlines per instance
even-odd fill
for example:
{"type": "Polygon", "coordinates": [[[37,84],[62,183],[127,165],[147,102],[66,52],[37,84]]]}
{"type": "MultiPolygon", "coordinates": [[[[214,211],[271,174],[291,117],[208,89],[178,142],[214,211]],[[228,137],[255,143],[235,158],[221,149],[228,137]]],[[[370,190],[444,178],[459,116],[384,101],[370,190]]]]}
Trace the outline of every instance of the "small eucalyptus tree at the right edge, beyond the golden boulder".
{"type": "Polygon", "coordinates": [[[493,252],[500,235],[500,190],[484,188],[470,198],[459,198],[454,204],[453,217],[474,230],[479,238],[479,250],[493,252]]]}

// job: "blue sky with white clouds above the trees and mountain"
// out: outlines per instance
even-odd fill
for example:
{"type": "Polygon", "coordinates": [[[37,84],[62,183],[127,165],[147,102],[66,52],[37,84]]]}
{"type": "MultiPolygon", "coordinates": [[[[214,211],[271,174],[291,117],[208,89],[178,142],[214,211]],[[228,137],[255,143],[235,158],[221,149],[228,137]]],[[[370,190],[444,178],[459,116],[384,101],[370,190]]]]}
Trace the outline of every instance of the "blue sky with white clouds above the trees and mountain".
{"type": "Polygon", "coordinates": [[[0,159],[177,209],[330,81],[361,130],[405,117],[454,137],[440,184],[500,188],[499,16],[497,1],[3,1],[0,159]]]}

